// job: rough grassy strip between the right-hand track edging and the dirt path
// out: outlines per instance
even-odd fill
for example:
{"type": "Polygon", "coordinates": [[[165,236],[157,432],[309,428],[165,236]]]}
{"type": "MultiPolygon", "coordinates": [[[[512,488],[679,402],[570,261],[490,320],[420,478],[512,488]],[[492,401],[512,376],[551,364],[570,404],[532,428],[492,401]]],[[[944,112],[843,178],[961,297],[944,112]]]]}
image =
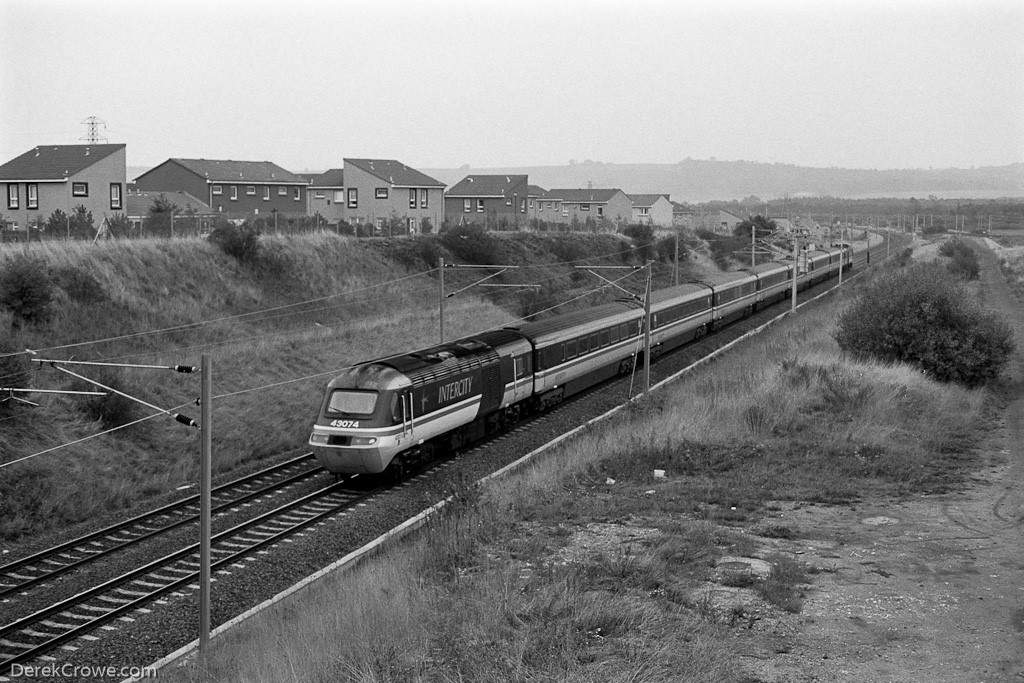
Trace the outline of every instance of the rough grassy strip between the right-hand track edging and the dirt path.
{"type": "Polygon", "coordinates": [[[409,547],[261,613],[205,675],[169,680],[743,680],[744,629],[798,611],[810,571],[766,538],[814,535],[762,512],[944,489],[983,429],[983,390],[842,359],[836,308],[466,490],[409,547]],[[715,568],[752,555],[767,579],[715,568]],[[756,596],[722,603],[723,586],[756,596]]]}

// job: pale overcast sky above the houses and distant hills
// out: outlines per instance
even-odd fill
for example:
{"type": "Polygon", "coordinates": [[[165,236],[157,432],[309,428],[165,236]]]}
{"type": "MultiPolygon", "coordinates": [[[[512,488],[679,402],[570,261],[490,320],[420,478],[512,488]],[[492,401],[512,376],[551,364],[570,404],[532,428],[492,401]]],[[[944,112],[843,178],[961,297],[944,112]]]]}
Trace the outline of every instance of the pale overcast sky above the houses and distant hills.
{"type": "Polygon", "coordinates": [[[1020,0],[0,0],[0,163],[1024,162],[1020,0]]]}

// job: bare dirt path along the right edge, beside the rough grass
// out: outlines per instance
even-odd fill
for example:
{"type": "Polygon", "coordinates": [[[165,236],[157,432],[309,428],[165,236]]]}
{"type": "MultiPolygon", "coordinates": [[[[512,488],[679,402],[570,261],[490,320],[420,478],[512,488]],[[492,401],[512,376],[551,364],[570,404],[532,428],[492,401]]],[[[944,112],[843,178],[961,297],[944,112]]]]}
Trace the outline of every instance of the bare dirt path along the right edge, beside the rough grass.
{"type": "Polygon", "coordinates": [[[752,655],[757,680],[1024,682],[1024,304],[991,252],[981,261],[1018,346],[983,467],[957,494],[778,513],[823,571],[798,623],[752,655]]]}

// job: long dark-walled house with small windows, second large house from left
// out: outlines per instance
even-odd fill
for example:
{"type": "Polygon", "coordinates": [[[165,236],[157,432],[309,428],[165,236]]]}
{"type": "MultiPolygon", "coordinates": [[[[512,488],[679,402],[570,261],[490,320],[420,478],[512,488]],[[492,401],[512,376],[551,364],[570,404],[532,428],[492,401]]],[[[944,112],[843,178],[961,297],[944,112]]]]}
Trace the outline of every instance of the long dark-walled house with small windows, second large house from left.
{"type": "Polygon", "coordinates": [[[135,178],[135,185],[187,193],[228,218],[306,213],[308,182],[268,161],[168,159],[135,178]]]}

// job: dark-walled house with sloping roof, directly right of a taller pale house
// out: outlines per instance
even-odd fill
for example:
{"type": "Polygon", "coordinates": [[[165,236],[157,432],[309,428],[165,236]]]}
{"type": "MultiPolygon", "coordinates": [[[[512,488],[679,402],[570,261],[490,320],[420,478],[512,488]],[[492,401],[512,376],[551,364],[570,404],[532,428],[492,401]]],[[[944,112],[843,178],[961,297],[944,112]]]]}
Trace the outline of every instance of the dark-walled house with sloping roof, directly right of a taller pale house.
{"type": "Polygon", "coordinates": [[[525,175],[467,175],[444,193],[444,217],[484,229],[517,229],[529,218],[528,201],[525,175]]]}

